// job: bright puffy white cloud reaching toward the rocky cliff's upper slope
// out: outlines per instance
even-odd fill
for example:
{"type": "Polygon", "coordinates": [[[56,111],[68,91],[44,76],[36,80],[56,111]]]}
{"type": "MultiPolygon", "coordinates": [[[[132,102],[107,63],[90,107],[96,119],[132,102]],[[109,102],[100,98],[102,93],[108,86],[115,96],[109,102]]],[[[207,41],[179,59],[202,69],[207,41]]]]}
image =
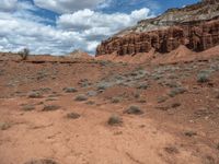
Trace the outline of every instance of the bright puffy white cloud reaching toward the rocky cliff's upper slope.
{"type": "Polygon", "coordinates": [[[67,31],[79,31],[88,37],[92,35],[112,35],[119,30],[136,24],[139,20],[149,16],[150,10],[143,8],[130,14],[106,14],[94,12],[90,9],[80,10],[73,14],[62,14],[57,20],[57,25],[67,31]]]}

